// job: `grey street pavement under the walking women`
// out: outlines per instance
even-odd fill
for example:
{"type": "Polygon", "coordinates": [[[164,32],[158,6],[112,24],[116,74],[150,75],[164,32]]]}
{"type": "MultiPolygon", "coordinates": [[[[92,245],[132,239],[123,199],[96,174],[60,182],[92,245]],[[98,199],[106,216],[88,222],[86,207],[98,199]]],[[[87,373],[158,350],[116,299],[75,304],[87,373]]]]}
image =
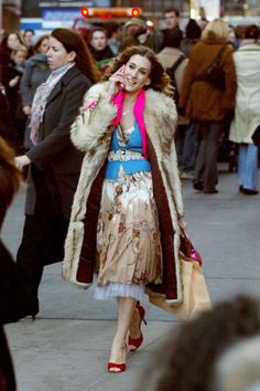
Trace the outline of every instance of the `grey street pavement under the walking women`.
{"type": "MultiPolygon", "coordinates": [[[[213,304],[237,294],[260,294],[260,196],[238,192],[237,175],[219,167],[219,193],[203,194],[183,180],[188,234],[204,260],[213,304]]],[[[260,178],[259,178],[260,179],[260,178]]],[[[25,190],[10,208],[2,231],[15,255],[22,234],[25,190]]],[[[61,277],[61,264],[46,266],[40,287],[41,311],[6,326],[18,391],[137,391],[151,356],[180,319],[143,303],[148,326],[140,350],[128,355],[128,369],[108,373],[116,327],[116,303],[95,302],[61,277]]]]}

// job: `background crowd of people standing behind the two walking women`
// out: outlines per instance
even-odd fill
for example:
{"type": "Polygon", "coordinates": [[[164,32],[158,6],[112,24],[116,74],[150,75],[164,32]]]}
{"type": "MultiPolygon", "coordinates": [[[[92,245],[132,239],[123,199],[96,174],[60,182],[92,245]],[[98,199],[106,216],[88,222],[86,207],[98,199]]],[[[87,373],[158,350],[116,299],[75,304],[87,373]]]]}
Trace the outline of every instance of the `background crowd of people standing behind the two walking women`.
{"type": "MultiPolygon", "coordinates": [[[[182,30],[177,9],[167,9],[163,15],[165,28],[162,30],[154,30],[144,18],[136,17],[123,25],[115,22],[95,25],[85,34],[85,40],[96,65],[104,73],[111,59],[126,47],[141,44],[152,49],[164,68],[171,72],[175,87],[174,99],[178,107],[175,142],[182,178],[192,179],[197,191],[217,193],[217,161],[230,160],[230,170],[238,171],[239,191],[257,194],[258,146],[253,145],[251,136],[259,125],[256,104],[259,28],[232,28],[223,20],[209,23],[203,18],[191,19],[182,30]],[[205,80],[205,72],[224,45],[220,63],[226,76],[225,89],[221,89],[205,80]],[[250,64],[254,65],[250,65],[250,72],[242,55],[250,57],[250,64]],[[249,105],[245,104],[249,101],[249,105]]],[[[35,36],[32,30],[23,34],[8,32],[1,41],[0,83],[6,99],[1,94],[4,115],[0,133],[17,151],[32,146],[31,105],[36,87],[51,72],[47,47],[48,35],[35,36]]]]}

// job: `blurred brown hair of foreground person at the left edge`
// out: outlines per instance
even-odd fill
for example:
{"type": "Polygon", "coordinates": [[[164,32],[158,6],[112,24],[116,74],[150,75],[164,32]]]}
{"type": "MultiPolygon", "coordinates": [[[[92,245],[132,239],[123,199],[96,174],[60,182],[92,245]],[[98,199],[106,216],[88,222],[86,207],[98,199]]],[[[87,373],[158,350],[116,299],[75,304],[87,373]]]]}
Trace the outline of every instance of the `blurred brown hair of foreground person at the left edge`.
{"type": "Polygon", "coordinates": [[[0,228],[20,182],[21,172],[14,166],[14,150],[0,137],[0,228]]]}

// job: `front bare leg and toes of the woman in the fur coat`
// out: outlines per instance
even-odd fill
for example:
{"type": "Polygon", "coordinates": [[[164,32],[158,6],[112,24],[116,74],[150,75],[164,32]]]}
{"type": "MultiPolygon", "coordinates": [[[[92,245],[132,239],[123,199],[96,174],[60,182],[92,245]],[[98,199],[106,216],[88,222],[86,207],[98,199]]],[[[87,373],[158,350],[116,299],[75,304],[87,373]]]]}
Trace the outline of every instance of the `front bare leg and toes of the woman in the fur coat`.
{"type": "MultiPolygon", "coordinates": [[[[112,341],[109,362],[124,363],[127,353],[127,335],[132,320],[137,300],[132,297],[118,298],[118,326],[117,332],[112,341]]],[[[110,371],[118,372],[118,368],[112,368],[110,371]]]]}

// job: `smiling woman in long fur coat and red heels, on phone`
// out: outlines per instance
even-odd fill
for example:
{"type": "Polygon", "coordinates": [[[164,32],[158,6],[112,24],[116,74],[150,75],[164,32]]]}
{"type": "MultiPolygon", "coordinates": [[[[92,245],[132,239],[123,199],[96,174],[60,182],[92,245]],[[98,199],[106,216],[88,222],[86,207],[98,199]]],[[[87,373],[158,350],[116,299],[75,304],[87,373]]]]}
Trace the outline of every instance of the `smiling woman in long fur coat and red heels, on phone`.
{"type": "Polygon", "coordinates": [[[64,278],[97,299],[118,299],[108,371],[126,370],[127,344],[142,341],[144,288],[180,303],[183,199],[176,165],[176,109],[153,51],[127,47],[84,99],[72,127],[85,151],[65,243],[64,278]],[[95,266],[96,265],[96,266],[95,266]],[[127,338],[127,335],[129,336],[127,338]]]}

